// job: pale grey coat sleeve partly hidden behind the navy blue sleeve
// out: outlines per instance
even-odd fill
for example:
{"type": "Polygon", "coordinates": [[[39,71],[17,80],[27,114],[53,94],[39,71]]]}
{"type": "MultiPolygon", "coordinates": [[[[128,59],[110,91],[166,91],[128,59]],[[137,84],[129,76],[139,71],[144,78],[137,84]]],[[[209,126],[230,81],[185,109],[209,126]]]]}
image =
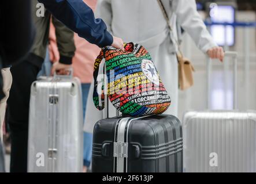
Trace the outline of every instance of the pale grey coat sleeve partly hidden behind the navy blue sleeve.
{"type": "Polygon", "coordinates": [[[106,23],[107,30],[112,33],[112,7],[111,0],[98,0],[97,8],[95,11],[96,17],[102,17],[106,23]]]}

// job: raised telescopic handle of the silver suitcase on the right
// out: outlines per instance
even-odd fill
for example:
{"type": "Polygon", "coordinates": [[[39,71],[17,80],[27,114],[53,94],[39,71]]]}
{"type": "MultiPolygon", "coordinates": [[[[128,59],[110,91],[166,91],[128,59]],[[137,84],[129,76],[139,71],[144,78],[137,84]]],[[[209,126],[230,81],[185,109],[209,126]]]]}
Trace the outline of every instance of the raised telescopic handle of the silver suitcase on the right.
{"type": "MultiPolygon", "coordinates": [[[[225,58],[231,57],[233,61],[233,109],[237,108],[238,94],[238,52],[226,51],[225,58]]],[[[225,62],[225,61],[224,61],[225,62]]],[[[210,109],[210,86],[211,86],[212,59],[207,62],[207,108],[210,109]]]]}

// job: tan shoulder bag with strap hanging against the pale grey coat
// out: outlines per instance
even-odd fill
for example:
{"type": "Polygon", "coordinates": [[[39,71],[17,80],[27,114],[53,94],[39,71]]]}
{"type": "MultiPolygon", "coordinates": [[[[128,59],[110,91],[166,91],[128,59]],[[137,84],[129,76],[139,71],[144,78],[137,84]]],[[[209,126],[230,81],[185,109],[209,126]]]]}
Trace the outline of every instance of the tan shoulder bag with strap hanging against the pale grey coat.
{"type": "MultiPolygon", "coordinates": [[[[161,0],[157,0],[159,3],[159,6],[161,7],[162,13],[164,14],[165,20],[168,24],[168,27],[170,29],[170,32],[172,32],[172,26],[170,25],[170,20],[168,17],[168,14],[165,10],[164,4],[161,0]]],[[[179,51],[176,53],[177,60],[178,60],[178,70],[179,70],[179,89],[180,90],[186,90],[194,85],[194,75],[193,72],[194,67],[192,66],[192,63],[189,59],[183,56],[181,50],[180,50],[180,44],[179,41],[173,40],[173,43],[176,43],[179,51]]]]}

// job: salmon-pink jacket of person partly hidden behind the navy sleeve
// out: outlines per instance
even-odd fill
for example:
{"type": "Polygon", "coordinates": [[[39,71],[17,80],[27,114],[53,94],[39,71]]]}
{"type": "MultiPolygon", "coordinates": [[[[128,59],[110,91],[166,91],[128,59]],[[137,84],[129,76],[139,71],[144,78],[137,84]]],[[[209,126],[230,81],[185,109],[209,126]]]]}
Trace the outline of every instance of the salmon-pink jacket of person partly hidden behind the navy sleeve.
{"type": "MultiPolygon", "coordinates": [[[[97,0],[83,1],[87,3],[87,5],[90,6],[92,10],[95,10],[97,0]]],[[[50,60],[52,62],[56,62],[60,59],[60,54],[58,53],[55,28],[53,24],[50,25],[49,38],[50,60]]],[[[77,76],[80,79],[81,83],[91,83],[92,73],[94,71],[94,61],[101,49],[97,45],[88,43],[88,41],[82,39],[76,33],[74,34],[74,40],[76,45],[76,52],[72,61],[74,76],[77,76]]]]}

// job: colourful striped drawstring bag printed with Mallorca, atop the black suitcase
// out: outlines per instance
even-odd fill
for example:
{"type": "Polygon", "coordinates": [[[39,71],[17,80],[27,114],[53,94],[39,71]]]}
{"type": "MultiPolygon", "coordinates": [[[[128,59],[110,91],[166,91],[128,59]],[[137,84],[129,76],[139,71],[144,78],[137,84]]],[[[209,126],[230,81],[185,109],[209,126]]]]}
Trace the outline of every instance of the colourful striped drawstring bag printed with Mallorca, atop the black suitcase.
{"type": "Polygon", "coordinates": [[[122,51],[110,46],[104,47],[95,60],[94,105],[99,110],[104,109],[107,93],[114,107],[123,115],[164,113],[170,106],[170,97],[149,52],[142,45],[133,43],[125,44],[124,48],[122,51]],[[103,59],[106,74],[99,74],[103,59]]]}

